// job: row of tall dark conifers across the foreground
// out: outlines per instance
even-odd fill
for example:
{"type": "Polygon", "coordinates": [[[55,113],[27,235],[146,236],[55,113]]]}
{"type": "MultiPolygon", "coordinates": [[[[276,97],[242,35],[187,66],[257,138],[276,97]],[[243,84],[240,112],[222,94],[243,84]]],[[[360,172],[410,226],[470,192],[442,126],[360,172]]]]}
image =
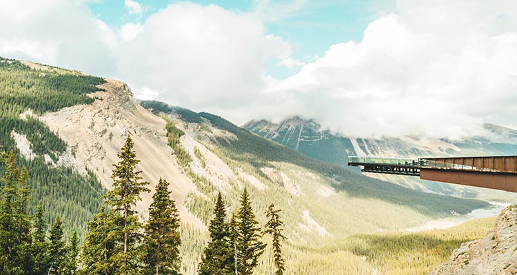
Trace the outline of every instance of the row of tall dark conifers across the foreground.
{"type": "MultiPolygon", "coordinates": [[[[88,223],[88,232],[80,245],[75,232],[65,240],[59,217],[47,230],[41,203],[33,215],[29,214],[32,190],[27,183],[28,173],[17,166],[13,152],[3,153],[0,274],[181,274],[181,221],[170,198],[170,183],[159,180],[148,209],[149,217],[142,223],[134,207],[141,201],[143,192],[150,192],[150,183],[142,181],[141,171],[136,170],[139,160],[130,136],[118,156],[120,161],[114,164],[112,172],[112,190],[101,197],[99,213],[88,223]]],[[[241,194],[239,209],[230,217],[219,193],[208,228],[210,241],[197,273],[253,274],[266,247],[262,236],[270,234],[275,274],[283,274],[285,260],[281,246],[285,236],[279,212],[270,205],[266,212],[268,221],[262,230],[246,189],[241,194]]]]}

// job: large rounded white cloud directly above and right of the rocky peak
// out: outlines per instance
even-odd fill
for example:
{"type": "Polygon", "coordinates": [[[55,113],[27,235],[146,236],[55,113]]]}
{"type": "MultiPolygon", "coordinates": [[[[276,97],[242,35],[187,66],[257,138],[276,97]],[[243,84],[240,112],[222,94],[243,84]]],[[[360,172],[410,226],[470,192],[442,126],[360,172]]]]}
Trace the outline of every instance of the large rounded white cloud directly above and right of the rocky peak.
{"type": "Polygon", "coordinates": [[[265,34],[255,14],[174,3],[152,14],[116,52],[119,76],[136,94],[154,91],[157,99],[235,120],[230,112],[265,88],[267,59],[290,50],[280,37],[265,34]]]}

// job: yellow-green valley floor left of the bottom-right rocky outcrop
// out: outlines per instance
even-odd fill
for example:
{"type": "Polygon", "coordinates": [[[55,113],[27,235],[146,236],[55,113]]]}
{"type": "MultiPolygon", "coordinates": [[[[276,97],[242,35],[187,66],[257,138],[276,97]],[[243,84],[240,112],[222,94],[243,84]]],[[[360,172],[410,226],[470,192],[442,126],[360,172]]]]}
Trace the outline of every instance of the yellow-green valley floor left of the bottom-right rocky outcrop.
{"type": "MultiPolygon", "coordinates": [[[[427,274],[449,258],[461,243],[483,238],[496,218],[480,218],[427,232],[354,235],[321,247],[307,248],[292,261],[292,274],[427,274]]],[[[290,247],[291,249],[291,247],[290,247]]]]}

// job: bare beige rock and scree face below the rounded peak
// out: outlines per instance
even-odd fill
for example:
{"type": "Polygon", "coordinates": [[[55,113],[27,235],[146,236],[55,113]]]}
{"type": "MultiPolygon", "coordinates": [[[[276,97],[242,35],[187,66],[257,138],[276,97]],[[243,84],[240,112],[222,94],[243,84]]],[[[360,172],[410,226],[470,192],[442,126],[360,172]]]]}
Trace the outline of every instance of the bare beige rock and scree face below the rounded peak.
{"type": "MultiPolygon", "coordinates": [[[[125,83],[107,79],[101,88],[105,92],[91,94],[100,99],[91,105],[64,108],[40,118],[70,146],[72,152],[64,162],[73,163],[79,172],[88,167],[104,187],[110,189],[112,163],[119,161],[117,153],[126,136],[131,134],[134,136],[134,149],[141,159],[138,168],[143,171],[143,179],[151,183],[153,190],[160,177],[172,183],[173,196],[178,202],[182,220],[204,228],[199,218],[183,206],[187,194],[196,187],[173,164],[175,161],[167,145],[165,121],[142,108],[125,83]]],[[[142,194],[142,203],[137,205],[140,210],[148,209],[151,195],[142,194]]]]}

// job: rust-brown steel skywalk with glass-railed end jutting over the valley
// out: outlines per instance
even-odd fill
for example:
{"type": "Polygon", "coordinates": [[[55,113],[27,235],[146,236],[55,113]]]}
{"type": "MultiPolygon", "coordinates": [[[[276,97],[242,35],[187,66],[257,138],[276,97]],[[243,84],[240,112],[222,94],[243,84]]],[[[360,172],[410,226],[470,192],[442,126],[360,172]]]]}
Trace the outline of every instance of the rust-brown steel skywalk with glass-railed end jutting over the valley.
{"type": "Polygon", "coordinates": [[[420,179],[517,192],[517,156],[393,159],[349,156],[363,172],[420,176],[420,179]]]}

